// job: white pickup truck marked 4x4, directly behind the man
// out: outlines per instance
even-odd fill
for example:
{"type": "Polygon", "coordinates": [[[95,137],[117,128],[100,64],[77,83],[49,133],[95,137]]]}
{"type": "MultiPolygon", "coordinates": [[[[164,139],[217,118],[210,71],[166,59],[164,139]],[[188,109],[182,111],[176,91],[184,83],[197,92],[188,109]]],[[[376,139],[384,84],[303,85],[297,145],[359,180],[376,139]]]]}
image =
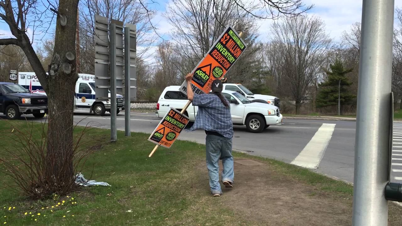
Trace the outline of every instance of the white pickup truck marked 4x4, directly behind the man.
{"type": "MultiPolygon", "coordinates": [[[[179,111],[187,103],[187,96],[179,91],[180,86],[166,87],[159,97],[156,106],[156,116],[164,117],[168,110],[173,107],[179,111]]],[[[246,125],[247,130],[252,133],[260,133],[269,125],[276,125],[282,122],[282,115],[279,108],[268,103],[253,103],[240,95],[238,92],[223,90],[222,95],[230,102],[230,113],[234,125],[246,125]]],[[[195,121],[198,107],[192,104],[185,111],[190,121],[195,121]]]]}

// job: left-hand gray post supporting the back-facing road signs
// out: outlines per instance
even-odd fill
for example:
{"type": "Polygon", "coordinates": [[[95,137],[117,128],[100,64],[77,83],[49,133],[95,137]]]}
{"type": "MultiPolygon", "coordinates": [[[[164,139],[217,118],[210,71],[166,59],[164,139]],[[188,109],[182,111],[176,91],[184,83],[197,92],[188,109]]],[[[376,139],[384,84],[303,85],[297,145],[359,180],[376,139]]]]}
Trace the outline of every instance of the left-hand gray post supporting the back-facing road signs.
{"type": "Polygon", "coordinates": [[[110,129],[111,140],[117,140],[116,117],[117,117],[117,97],[116,97],[116,25],[110,24],[110,129]]]}

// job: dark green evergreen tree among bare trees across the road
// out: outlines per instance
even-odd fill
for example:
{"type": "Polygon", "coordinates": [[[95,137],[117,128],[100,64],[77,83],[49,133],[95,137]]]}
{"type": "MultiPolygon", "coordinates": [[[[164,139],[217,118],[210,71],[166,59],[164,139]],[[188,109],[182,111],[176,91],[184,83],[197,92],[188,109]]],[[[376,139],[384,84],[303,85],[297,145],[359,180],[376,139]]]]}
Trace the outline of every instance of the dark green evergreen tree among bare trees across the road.
{"type": "Polygon", "coordinates": [[[342,105],[350,104],[353,101],[356,96],[348,93],[345,88],[352,84],[346,76],[346,74],[352,72],[352,70],[352,68],[345,69],[340,61],[336,61],[335,64],[330,64],[330,71],[325,71],[327,74],[326,81],[318,84],[320,90],[317,97],[317,107],[338,105],[339,80],[341,109],[342,105]]]}

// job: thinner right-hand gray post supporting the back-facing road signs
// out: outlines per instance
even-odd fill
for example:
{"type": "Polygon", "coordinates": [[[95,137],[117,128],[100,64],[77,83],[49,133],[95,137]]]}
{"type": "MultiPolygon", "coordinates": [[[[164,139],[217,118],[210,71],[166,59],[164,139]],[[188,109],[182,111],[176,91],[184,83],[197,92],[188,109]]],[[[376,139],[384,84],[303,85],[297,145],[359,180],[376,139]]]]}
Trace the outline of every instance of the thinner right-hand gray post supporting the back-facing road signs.
{"type": "Polygon", "coordinates": [[[131,118],[131,101],[130,101],[130,28],[124,28],[124,72],[125,72],[125,136],[131,136],[130,118],[131,118]]]}

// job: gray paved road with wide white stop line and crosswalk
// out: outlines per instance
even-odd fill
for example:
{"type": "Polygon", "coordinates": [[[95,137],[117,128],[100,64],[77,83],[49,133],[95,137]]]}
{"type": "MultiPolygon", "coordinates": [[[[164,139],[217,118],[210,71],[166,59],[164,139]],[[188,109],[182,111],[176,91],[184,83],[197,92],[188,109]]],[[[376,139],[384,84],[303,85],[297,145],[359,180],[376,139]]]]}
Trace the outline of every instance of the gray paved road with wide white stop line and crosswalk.
{"type": "MultiPolygon", "coordinates": [[[[0,114],[0,118],[4,116],[0,114]]],[[[27,118],[33,119],[30,115],[27,115],[27,118]]],[[[76,114],[74,121],[80,125],[88,123],[91,126],[110,128],[110,115],[100,117],[76,114]]],[[[159,121],[153,113],[131,113],[131,131],[150,134],[159,121]]],[[[400,131],[394,131],[398,133],[394,134],[397,136],[394,139],[400,141],[394,142],[400,144],[394,144],[396,147],[392,156],[392,178],[402,180],[402,124],[396,124],[395,127],[400,131]]],[[[233,148],[287,163],[305,163],[314,171],[353,182],[355,128],[356,123],[353,121],[287,119],[282,125],[270,126],[260,134],[252,134],[246,131],[245,126],[235,125],[233,148]]],[[[117,116],[117,129],[124,130],[122,113],[117,116]]],[[[205,133],[201,130],[190,133],[183,131],[179,140],[205,144],[205,133]]],[[[150,151],[153,146],[150,142],[150,151]]]]}

